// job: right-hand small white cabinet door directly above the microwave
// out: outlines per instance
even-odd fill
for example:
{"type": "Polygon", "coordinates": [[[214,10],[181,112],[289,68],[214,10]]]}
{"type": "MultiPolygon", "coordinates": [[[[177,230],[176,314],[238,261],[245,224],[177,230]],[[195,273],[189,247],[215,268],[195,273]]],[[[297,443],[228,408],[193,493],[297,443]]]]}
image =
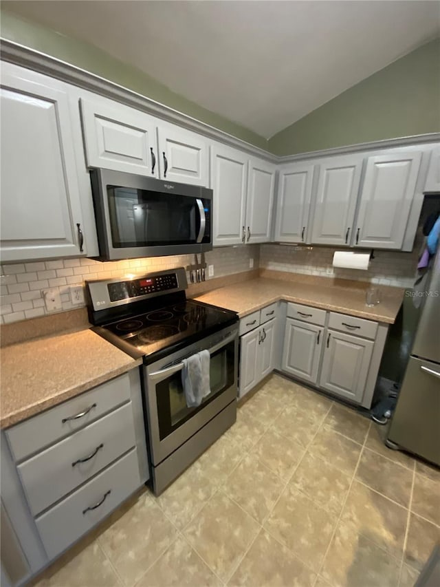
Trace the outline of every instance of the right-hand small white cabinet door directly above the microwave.
{"type": "Polygon", "coordinates": [[[161,179],[208,185],[208,143],[205,138],[174,125],[159,124],[157,140],[161,179]]]}

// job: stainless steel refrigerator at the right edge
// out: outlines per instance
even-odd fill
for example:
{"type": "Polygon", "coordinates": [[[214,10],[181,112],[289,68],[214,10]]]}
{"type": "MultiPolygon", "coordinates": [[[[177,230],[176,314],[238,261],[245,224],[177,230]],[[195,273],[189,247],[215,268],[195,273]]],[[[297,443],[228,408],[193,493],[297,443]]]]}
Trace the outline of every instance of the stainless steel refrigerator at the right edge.
{"type": "Polygon", "coordinates": [[[388,440],[440,466],[440,251],[423,293],[388,440]]]}

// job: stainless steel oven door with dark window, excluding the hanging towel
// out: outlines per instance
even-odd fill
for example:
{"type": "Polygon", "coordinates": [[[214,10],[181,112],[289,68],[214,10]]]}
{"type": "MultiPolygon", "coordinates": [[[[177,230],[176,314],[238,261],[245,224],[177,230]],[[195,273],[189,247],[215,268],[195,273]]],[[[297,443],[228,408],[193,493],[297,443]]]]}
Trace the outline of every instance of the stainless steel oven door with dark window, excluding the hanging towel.
{"type": "Polygon", "coordinates": [[[144,367],[146,415],[153,465],[159,465],[224,407],[236,400],[237,359],[238,328],[234,326],[144,367]],[[188,407],[181,383],[182,360],[203,349],[210,352],[211,393],[198,407],[188,407]]]}

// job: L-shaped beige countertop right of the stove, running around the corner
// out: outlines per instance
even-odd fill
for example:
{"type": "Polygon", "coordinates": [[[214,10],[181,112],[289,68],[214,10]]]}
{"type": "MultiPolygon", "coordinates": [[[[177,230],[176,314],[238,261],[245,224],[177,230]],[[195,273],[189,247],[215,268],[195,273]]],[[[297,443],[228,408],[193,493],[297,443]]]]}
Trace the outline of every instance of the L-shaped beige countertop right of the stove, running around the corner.
{"type": "Polygon", "coordinates": [[[363,281],[333,280],[298,274],[282,275],[275,271],[267,271],[266,275],[272,278],[259,277],[242,284],[226,286],[197,299],[234,310],[239,317],[283,299],[392,324],[404,297],[404,290],[401,288],[379,286],[381,302],[368,308],[365,304],[365,292],[369,284],[363,281]],[[274,279],[275,276],[278,279],[274,279]]]}

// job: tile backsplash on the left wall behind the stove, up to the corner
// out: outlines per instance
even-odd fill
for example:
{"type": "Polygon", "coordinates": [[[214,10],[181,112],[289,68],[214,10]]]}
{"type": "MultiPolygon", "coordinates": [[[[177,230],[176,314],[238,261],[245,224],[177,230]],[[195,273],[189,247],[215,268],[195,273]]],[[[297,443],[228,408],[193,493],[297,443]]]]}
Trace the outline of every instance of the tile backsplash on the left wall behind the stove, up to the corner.
{"type": "MultiPolygon", "coordinates": [[[[248,271],[250,259],[254,260],[254,268],[258,268],[259,254],[259,245],[246,245],[216,248],[205,256],[206,263],[214,265],[214,277],[223,277],[248,271]]],[[[59,290],[61,294],[63,309],[60,311],[72,310],[80,306],[72,304],[70,286],[84,285],[85,279],[139,275],[150,271],[185,267],[194,261],[194,255],[175,255],[115,262],[81,258],[3,264],[0,275],[0,323],[52,314],[53,312],[47,312],[43,298],[43,290],[49,288],[59,290]]],[[[209,279],[208,269],[206,279],[209,279]]]]}

